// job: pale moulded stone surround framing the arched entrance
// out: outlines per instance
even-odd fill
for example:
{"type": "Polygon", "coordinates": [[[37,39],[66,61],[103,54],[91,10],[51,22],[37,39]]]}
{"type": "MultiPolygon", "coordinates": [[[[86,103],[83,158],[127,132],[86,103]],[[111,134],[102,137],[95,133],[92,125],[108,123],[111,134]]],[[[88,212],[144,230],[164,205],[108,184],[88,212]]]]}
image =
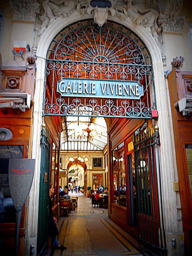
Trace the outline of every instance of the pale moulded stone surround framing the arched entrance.
{"type": "MultiPolygon", "coordinates": [[[[45,67],[45,60],[43,58],[47,57],[47,50],[49,49],[49,44],[51,43],[52,38],[55,37],[55,35],[62,30],[63,27],[72,24],[75,21],[81,20],[82,17],[79,14],[73,14],[70,18],[57,19],[53,24],[51,24],[50,27],[47,28],[46,32],[42,35],[41,40],[39,42],[39,46],[37,49],[37,56],[40,57],[38,59],[37,63],[37,79],[36,79],[36,92],[35,92],[35,106],[34,106],[34,128],[37,131],[37,133],[33,136],[33,148],[35,150],[32,151],[32,157],[36,158],[36,172],[35,172],[35,179],[34,184],[30,192],[30,200],[38,202],[39,200],[39,190],[36,189],[35,184],[39,184],[39,173],[40,173],[40,146],[38,145],[38,141],[40,140],[40,130],[41,130],[41,124],[42,124],[42,95],[43,95],[43,84],[44,84],[44,67],[45,67]],[[41,58],[42,57],[42,58],[41,58]],[[38,132],[39,131],[39,132],[38,132]]],[[[111,18],[113,21],[119,22],[119,19],[116,17],[111,18]]],[[[126,21],[121,21],[123,25],[126,27],[129,27],[132,29],[132,31],[136,31],[137,35],[139,35],[140,38],[143,39],[145,44],[147,45],[151,57],[153,60],[153,70],[154,70],[154,81],[155,81],[155,89],[156,89],[156,95],[157,95],[157,107],[160,110],[159,111],[159,120],[158,120],[158,126],[159,130],[162,134],[161,137],[161,164],[164,167],[164,172],[162,172],[163,180],[165,182],[166,187],[170,187],[172,185],[171,180],[168,180],[167,177],[167,171],[172,168],[173,165],[173,158],[170,155],[169,158],[166,157],[166,152],[171,152],[171,141],[169,137],[169,122],[168,122],[168,116],[165,115],[166,113],[166,91],[165,91],[165,82],[164,82],[164,76],[163,76],[163,68],[162,68],[162,60],[161,60],[161,54],[159,49],[157,48],[157,45],[155,43],[155,40],[151,36],[151,34],[148,32],[147,29],[143,27],[137,27],[135,28],[133,25],[128,24],[126,21]],[[161,99],[164,99],[164,101],[161,101],[161,99]],[[166,126],[164,124],[167,124],[166,126]]],[[[167,191],[163,191],[164,198],[167,195],[167,191]]],[[[171,197],[170,197],[171,198],[171,197]]],[[[175,208],[176,205],[173,200],[170,198],[166,199],[165,202],[165,208],[171,207],[175,208]]],[[[33,204],[30,204],[29,207],[34,207],[33,204]]],[[[34,209],[36,212],[35,216],[38,216],[38,206],[34,209]]],[[[33,212],[33,211],[31,211],[33,212]]],[[[166,212],[164,212],[166,215],[166,212]]],[[[36,217],[37,218],[37,217],[36,217]]],[[[166,220],[168,220],[168,216],[166,215],[166,220]]],[[[165,221],[166,224],[166,230],[167,232],[172,231],[173,229],[176,230],[175,227],[175,220],[177,219],[176,214],[172,214],[172,220],[171,225],[165,221]]],[[[37,232],[37,225],[36,225],[36,219],[34,219],[32,216],[30,216],[29,211],[29,220],[32,221],[29,224],[28,233],[29,236],[33,237],[37,232]],[[30,228],[31,227],[31,228],[30,228]],[[32,228],[36,227],[36,228],[32,228]]]]}

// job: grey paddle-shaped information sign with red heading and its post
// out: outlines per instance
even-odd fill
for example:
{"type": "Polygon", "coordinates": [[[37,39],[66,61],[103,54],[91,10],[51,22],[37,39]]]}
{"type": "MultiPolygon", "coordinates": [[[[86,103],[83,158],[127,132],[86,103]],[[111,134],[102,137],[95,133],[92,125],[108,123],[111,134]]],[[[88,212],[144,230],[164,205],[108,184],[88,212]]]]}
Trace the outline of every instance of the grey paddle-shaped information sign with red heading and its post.
{"type": "Polygon", "coordinates": [[[35,159],[9,159],[9,188],[16,210],[15,256],[18,256],[21,214],[31,189],[34,170],[35,159]]]}

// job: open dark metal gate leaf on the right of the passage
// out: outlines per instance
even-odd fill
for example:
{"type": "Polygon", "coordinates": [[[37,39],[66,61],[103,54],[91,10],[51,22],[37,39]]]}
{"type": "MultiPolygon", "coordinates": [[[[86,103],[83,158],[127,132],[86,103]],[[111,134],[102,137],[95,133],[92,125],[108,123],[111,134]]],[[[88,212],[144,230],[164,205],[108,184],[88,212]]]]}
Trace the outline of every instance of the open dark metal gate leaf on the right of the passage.
{"type": "Polygon", "coordinates": [[[150,254],[167,255],[161,195],[158,128],[143,124],[134,134],[139,245],[150,254]],[[158,184],[159,180],[159,184],[158,184]]]}

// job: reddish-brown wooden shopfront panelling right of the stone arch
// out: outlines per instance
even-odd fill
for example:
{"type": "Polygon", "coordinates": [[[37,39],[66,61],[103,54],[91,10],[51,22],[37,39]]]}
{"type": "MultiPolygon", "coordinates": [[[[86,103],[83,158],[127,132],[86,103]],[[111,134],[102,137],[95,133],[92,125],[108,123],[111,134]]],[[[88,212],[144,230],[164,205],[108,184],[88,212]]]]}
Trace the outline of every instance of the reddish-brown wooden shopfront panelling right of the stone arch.
{"type": "Polygon", "coordinates": [[[189,230],[192,230],[192,201],[184,144],[192,144],[192,116],[182,116],[179,110],[174,108],[174,104],[183,97],[192,98],[191,82],[192,72],[183,72],[179,68],[173,68],[168,76],[186,254],[192,249],[190,248],[192,237],[189,235],[189,230]]]}

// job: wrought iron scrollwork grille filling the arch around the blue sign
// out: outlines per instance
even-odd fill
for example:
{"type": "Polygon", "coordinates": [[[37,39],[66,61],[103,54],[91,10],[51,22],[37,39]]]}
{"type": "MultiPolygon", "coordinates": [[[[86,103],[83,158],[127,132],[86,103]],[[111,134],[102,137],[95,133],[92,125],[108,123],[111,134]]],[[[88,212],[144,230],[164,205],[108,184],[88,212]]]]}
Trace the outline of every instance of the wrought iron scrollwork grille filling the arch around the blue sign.
{"type": "Polygon", "coordinates": [[[110,21],[100,28],[86,20],[66,27],[52,41],[46,60],[44,116],[152,118],[155,101],[149,52],[131,30],[110,21]],[[139,100],[61,96],[56,88],[63,78],[135,81],[143,86],[144,95],[139,100]]]}

